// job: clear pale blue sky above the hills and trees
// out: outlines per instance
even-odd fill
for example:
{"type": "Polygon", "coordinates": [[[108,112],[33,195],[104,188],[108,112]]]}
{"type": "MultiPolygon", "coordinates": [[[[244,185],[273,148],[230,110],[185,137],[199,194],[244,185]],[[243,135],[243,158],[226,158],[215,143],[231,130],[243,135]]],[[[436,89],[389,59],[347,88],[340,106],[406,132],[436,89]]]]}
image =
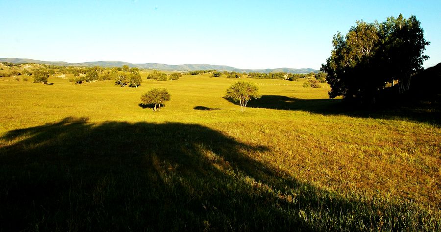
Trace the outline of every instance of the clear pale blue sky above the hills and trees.
{"type": "Polygon", "coordinates": [[[0,57],[319,69],[337,31],[412,14],[441,62],[440,0],[0,0],[0,57]]]}

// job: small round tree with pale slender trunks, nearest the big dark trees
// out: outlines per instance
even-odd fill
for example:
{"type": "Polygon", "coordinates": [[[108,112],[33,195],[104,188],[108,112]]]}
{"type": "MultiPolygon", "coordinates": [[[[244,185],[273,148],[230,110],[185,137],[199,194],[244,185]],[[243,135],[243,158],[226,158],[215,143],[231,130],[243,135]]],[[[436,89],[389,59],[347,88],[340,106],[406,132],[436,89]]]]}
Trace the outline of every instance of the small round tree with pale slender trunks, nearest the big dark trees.
{"type": "Polygon", "coordinates": [[[241,104],[241,112],[246,109],[246,103],[251,100],[251,98],[260,98],[259,87],[256,84],[246,81],[239,81],[228,87],[226,91],[226,97],[233,100],[239,101],[241,104]]]}

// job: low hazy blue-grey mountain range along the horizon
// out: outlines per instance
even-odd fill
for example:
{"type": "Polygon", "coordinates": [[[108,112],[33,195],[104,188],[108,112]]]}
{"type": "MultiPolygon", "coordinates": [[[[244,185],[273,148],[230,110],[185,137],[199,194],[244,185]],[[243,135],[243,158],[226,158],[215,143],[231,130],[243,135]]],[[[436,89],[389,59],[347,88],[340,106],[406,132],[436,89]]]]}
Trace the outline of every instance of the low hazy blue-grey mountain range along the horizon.
{"type": "Polygon", "coordinates": [[[132,64],[122,61],[93,61],[84,63],[67,63],[64,61],[41,61],[32,59],[21,58],[0,58],[0,62],[9,62],[14,64],[23,63],[36,63],[36,64],[48,64],[58,66],[101,66],[101,67],[122,67],[128,65],[129,67],[136,67],[140,69],[154,69],[163,71],[193,71],[193,70],[218,70],[218,71],[236,71],[236,72],[289,72],[289,73],[310,73],[318,72],[315,69],[292,69],[292,68],[279,68],[279,69],[264,69],[264,70],[252,70],[252,69],[238,69],[225,65],[207,65],[207,64],[185,64],[185,65],[166,65],[158,63],[146,63],[146,64],[132,64]]]}

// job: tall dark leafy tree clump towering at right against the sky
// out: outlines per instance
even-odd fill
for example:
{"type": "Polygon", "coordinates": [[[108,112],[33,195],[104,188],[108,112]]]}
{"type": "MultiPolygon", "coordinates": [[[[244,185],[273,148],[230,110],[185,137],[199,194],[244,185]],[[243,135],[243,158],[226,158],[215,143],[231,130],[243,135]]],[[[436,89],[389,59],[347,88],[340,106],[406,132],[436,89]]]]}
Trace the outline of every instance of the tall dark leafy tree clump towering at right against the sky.
{"type": "Polygon", "coordinates": [[[410,88],[413,74],[423,70],[423,29],[415,16],[390,17],[383,23],[357,21],[343,36],[333,40],[331,56],[322,65],[331,86],[329,97],[343,96],[374,103],[389,82],[398,82],[399,93],[410,88]]]}

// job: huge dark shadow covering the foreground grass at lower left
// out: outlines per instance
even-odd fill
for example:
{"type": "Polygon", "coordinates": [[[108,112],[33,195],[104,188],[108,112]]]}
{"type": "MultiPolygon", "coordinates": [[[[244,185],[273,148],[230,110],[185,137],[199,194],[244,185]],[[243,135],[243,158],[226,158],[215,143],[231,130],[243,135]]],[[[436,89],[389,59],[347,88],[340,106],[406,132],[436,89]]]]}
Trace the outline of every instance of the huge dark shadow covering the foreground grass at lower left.
{"type": "Polygon", "coordinates": [[[196,124],[65,118],[0,142],[5,231],[399,229],[429,217],[299,182],[253,159],[268,148],[196,124]]]}

